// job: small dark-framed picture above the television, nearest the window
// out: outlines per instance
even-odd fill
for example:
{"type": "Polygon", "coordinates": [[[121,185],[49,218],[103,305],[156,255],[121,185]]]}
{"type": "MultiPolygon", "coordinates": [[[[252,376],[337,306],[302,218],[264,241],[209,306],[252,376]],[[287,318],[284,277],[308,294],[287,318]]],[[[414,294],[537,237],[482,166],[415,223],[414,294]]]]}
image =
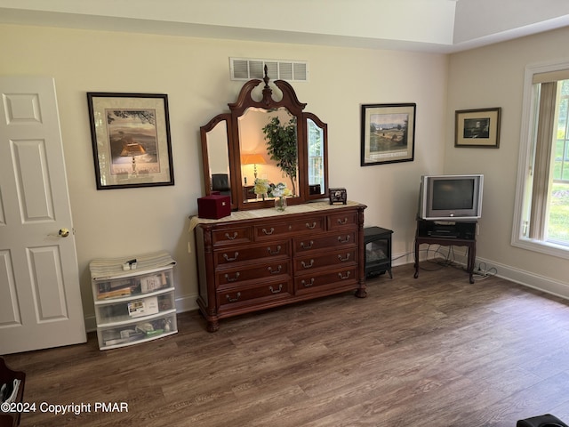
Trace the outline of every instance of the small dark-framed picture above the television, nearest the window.
{"type": "Polygon", "coordinates": [[[454,147],[498,149],[500,116],[500,107],[457,110],[454,121],[454,147]]]}

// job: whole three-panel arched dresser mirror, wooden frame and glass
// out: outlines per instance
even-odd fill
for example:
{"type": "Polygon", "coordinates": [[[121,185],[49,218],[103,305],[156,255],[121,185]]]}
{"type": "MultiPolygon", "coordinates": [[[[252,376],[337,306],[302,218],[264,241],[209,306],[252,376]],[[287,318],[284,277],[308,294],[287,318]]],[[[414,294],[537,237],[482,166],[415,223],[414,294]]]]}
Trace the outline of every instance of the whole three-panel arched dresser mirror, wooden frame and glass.
{"type": "Polygon", "coordinates": [[[271,189],[280,182],[289,205],[328,196],[326,124],[303,112],[306,104],[284,80],[274,83],[274,99],[268,81],[265,69],[262,81],[245,83],[228,104],[230,113],[200,128],[205,194],[220,191],[215,182],[226,177],[233,210],[274,205],[271,189]]]}

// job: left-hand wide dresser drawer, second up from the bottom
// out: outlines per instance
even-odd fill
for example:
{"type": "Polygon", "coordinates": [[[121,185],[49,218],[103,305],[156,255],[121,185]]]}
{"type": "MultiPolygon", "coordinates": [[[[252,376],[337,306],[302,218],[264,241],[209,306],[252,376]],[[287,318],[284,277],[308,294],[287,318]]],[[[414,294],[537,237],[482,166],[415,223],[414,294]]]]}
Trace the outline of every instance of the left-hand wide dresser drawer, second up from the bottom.
{"type": "Polygon", "coordinates": [[[215,283],[221,289],[243,286],[250,280],[267,282],[271,278],[288,276],[290,270],[289,262],[286,259],[247,265],[243,268],[221,269],[215,272],[215,283]]]}

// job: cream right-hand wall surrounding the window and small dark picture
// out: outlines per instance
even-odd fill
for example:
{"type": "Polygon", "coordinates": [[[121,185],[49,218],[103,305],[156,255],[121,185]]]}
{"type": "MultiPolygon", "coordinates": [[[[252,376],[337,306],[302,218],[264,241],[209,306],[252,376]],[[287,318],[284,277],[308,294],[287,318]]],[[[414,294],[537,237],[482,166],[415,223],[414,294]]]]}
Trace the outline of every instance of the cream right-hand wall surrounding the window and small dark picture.
{"type": "Polygon", "coordinates": [[[484,173],[483,218],[477,254],[499,274],[569,297],[569,262],[510,245],[525,66],[567,59],[569,28],[494,44],[450,57],[447,121],[457,109],[501,107],[499,149],[454,148],[446,127],[445,173],[484,173]]]}

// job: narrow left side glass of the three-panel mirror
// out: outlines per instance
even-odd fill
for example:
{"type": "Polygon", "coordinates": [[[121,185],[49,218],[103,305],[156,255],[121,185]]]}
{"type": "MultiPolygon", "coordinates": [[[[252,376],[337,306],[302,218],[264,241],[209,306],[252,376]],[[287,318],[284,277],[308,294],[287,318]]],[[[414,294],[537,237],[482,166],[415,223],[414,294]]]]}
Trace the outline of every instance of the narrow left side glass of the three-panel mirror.
{"type": "Polygon", "coordinates": [[[229,173],[228,126],[220,121],[206,134],[209,163],[210,189],[221,195],[231,196],[231,176],[229,173]]]}

